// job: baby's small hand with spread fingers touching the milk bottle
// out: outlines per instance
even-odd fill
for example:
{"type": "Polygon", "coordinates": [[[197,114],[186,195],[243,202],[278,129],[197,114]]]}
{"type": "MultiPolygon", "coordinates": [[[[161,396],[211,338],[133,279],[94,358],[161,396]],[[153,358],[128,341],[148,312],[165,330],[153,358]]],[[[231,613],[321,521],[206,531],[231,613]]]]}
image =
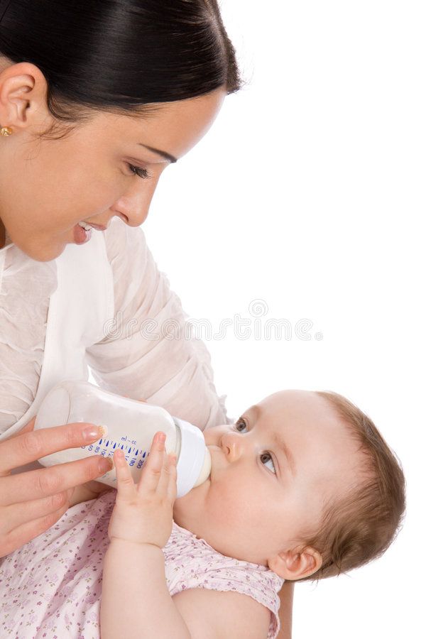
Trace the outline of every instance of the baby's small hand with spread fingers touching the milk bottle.
{"type": "Polygon", "coordinates": [[[121,450],[114,452],[117,496],[109,539],[124,539],[163,548],[172,532],[176,487],[176,456],[167,454],[165,435],[156,432],[150,453],[135,484],[121,450]]]}

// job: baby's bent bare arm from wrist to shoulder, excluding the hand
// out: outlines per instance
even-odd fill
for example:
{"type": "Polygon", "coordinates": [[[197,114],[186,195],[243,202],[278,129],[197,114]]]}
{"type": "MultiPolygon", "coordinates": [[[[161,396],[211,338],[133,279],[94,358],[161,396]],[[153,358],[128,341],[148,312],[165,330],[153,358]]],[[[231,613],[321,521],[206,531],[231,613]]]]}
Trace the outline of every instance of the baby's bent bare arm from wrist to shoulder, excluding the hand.
{"type": "Polygon", "coordinates": [[[270,619],[268,608],[239,592],[193,588],[172,597],[159,547],[111,540],[102,579],[102,639],[261,639],[270,619]]]}

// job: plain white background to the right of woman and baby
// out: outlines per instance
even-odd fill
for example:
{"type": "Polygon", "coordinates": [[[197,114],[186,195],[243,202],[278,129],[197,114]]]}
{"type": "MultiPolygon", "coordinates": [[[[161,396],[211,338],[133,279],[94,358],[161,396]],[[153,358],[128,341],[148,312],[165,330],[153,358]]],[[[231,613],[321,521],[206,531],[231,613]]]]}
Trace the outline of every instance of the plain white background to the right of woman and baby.
{"type": "Polygon", "coordinates": [[[231,417],[280,388],[332,389],[405,469],[395,544],[349,576],[296,586],[293,637],[425,636],[425,4],[222,9],[249,84],[165,171],[143,229],[190,317],[219,329],[239,314],[254,332],[263,308],[259,322],[292,327],[291,339],[229,327],[205,340],[231,417]],[[311,339],[297,337],[303,319],[311,339]]]}

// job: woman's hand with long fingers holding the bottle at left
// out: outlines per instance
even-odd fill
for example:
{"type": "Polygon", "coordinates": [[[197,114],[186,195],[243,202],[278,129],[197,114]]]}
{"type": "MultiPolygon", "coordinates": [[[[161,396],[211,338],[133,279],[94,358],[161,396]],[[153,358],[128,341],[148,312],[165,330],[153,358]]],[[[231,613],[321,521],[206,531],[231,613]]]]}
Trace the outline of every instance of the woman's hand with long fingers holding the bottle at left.
{"type": "Polygon", "coordinates": [[[50,468],[11,474],[11,470],[53,452],[96,442],[97,426],[73,423],[33,432],[35,417],[0,442],[0,557],[48,530],[67,510],[75,486],[111,470],[100,455],[50,468]],[[93,435],[89,435],[90,432],[93,435]]]}

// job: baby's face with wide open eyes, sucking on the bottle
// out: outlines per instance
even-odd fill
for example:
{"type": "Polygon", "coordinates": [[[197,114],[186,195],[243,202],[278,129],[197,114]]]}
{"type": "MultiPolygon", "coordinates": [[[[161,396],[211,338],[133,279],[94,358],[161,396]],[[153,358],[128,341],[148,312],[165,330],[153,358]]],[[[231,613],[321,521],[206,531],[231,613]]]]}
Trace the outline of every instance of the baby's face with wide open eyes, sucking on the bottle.
{"type": "Polygon", "coordinates": [[[204,430],[204,438],[211,476],[176,499],[173,517],[243,561],[267,566],[293,550],[303,533],[317,530],[324,504],[359,481],[359,444],[311,391],[274,393],[235,424],[204,430]]]}

